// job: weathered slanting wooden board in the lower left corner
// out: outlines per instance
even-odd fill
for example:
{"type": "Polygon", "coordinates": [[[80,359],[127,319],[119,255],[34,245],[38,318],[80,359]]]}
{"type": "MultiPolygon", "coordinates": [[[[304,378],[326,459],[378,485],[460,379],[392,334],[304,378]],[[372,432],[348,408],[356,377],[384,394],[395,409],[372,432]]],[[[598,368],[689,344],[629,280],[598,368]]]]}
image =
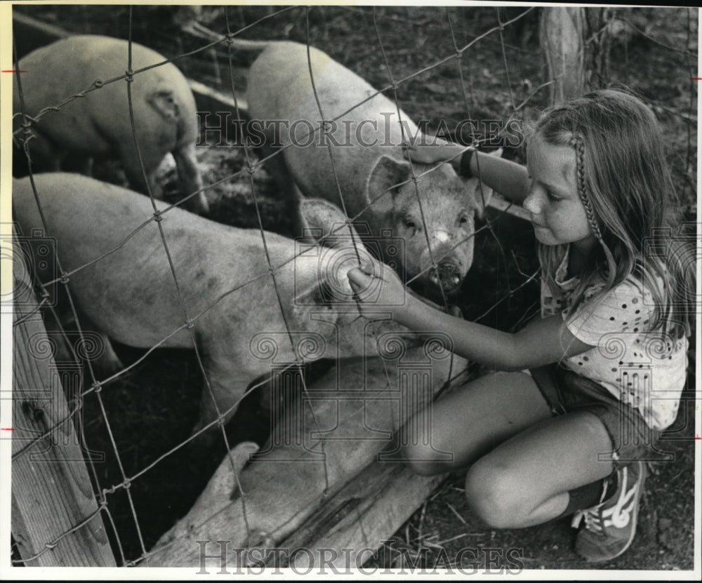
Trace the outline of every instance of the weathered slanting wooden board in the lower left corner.
{"type": "Polygon", "coordinates": [[[11,528],[18,551],[27,566],[114,566],[53,355],[41,352],[48,339],[21,260],[13,272],[11,528]]]}

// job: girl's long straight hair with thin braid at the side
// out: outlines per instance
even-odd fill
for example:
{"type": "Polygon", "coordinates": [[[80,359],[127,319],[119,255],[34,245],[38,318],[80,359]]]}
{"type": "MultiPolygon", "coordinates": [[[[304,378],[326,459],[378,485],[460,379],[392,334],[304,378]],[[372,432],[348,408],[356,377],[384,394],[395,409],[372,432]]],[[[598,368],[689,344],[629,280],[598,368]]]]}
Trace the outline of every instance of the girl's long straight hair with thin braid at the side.
{"type": "MultiPolygon", "coordinates": [[[[676,197],[654,113],[628,93],[595,91],[546,109],[530,133],[575,149],[578,196],[599,243],[574,290],[571,315],[588,287],[604,281],[592,298],[597,300],[629,278],[645,285],[654,299],[652,330],[688,335],[694,255],[675,239],[669,222],[676,197]]],[[[554,276],[564,246],[539,243],[538,255],[556,293],[554,276]]]]}

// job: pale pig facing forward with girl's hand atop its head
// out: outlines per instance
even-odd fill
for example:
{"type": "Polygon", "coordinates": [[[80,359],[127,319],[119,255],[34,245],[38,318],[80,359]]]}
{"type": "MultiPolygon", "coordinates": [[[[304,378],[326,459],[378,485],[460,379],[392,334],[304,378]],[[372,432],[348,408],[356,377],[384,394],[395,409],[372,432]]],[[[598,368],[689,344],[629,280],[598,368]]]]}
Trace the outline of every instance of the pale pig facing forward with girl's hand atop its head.
{"type": "Polygon", "coordinates": [[[376,93],[369,83],[312,47],[310,62],[314,89],[303,44],[271,42],[251,65],[249,125],[261,129],[252,138],[263,142],[272,174],[293,199],[342,206],[404,281],[416,279],[427,295],[456,292],[472,264],[475,215],[492,191],[449,163],[414,163],[415,185],[401,145],[421,136],[416,124],[400,112],[403,135],[395,103],[369,99],[376,93]],[[320,131],[322,119],[334,121],[320,131]],[[317,133],[306,138],[311,128],[317,133]]]}

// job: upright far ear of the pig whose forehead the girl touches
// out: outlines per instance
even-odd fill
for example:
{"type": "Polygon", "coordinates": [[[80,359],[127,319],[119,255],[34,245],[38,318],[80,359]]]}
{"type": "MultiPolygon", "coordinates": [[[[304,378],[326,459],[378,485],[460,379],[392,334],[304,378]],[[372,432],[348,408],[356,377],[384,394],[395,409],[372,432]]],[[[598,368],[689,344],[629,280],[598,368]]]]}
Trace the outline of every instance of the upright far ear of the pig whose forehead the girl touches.
{"type": "Polygon", "coordinates": [[[363,248],[356,229],[336,204],[324,199],[302,199],[299,204],[303,241],[327,247],[363,248]]]}

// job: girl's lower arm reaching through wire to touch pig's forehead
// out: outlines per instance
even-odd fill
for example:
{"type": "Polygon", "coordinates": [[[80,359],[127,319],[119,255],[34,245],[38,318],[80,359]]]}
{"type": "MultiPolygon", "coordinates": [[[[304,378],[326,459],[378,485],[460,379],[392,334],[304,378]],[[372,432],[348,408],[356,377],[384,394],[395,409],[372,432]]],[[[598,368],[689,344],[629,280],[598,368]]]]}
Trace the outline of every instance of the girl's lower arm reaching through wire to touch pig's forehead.
{"type": "Polygon", "coordinates": [[[348,278],[362,314],[373,314],[382,305],[397,323],[420,333],[449,335],[456,354],[499,370],[536,368],[592,349],[570,333],[560,315],[534,319],[517,333],[501,332],[429,307],[406,293],[397,274],[383,264],[350,269],[348,278]],[[373,278],[383,280],[380,297],[373,278]],[[364,297],[365,290],[375,295],[374,302],[364,297]]]}

